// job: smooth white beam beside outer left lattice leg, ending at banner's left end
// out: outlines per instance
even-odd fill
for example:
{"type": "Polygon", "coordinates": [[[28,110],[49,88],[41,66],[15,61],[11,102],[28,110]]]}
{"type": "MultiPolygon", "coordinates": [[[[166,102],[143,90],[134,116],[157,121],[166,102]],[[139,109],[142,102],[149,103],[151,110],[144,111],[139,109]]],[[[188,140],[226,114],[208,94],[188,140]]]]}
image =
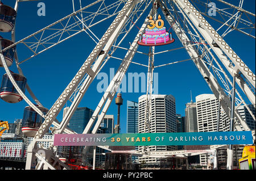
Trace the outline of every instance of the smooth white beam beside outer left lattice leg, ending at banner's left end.
{"type": "Polygon", "coordinates": [[[73,100],[71,107],[68,109],[63,120],[61,121],[60,127],[57,128],[56,133],[59,133],[59,134],[62,133],[64,131],[64,128],[69,123],[69,120],[71,119],[73,113],[76,111],[76,108],[79,105],[79,103],[81,102],[81,99],[84,96],[86,90],[88,89],[90,83],[97,76],[97,71],[98,71],[98,69],[100,69],[102,62],[104,61],[105,57],[108,55],[108,52],[109,52],[110,48],[112,47],[112,45],[114,44],[114,41],[117,39],[117,37],[118,37],[117,35],[122,30],[122,27],[125,26],[125,23],[127,21],[127,16],[130,16],[132,10],[134,9],[134,6],[135,6],[135,3],[133,3],[133,6],[131,6],[129,8],[129,10],[127,10],[125,12],[125,14],[123,15],[123,18],[119,20],[119,24],[118,24],[117,28],[115,28],[115,31],[112,33],[112,35],[109,37],[108,43],[106,43],[105,47],[102,48],[102,49],[105,49],[104,54],[101,54],[101,56],[99,56],[97,58],[95,64],[92,67],[93,73],[90,74],[86,78],[85,82],[81,86],[80,91],[76,95],[76,98],[73,100]]]}

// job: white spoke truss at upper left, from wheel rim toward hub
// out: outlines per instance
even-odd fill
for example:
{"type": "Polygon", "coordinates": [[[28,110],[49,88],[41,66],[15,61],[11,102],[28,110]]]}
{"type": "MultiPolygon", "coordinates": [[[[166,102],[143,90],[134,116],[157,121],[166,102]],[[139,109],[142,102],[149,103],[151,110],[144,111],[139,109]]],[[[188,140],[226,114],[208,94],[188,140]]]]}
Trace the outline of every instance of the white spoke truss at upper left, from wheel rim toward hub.
{"type": "Polygon", "coordinates": [[[82,9],[65,16],[64,18],[57,20],[55,23],[50,24],[42,30],[32,33],[24,39],[19,40],[16,43],[10,45],[9,47],[3,49],[3,51],[15,45],[24,45],[23,47],[26,47],[32,52],[32,56],[18,62],[18,64],[22,64],[30,58],[37,56],[38,54],[54,47],[57,44],[62,43],[65,40],[68,40],[75,35],[78,35],[81,32],[86,32],[89,36],[94,36],[89,28],[96,26],[98,23],[101,23],[104,20],[117,15],[119,12],[117,11],[119,10],[119,6],[125,1],[114,2],[107,7],[102,7],[102,9],[98,9],[97,12],[86,12],[86,17],[82,18],[82,13],[85,13],[84,11],[86,9],[89,9],[92,6],[96,6],[100,2],[104,2],[104,0],[98,0],[96,2],[93,2],[90,5],[85,6],[82,9]],[[104,14],[105,12],[112,13],[104,14]],[[97,18],[97,16],[103,15],[105,16],[105,18],[96,22],[95,19],[97,18]],[[86,24],[88,25],[86,26],[86,24]]]}

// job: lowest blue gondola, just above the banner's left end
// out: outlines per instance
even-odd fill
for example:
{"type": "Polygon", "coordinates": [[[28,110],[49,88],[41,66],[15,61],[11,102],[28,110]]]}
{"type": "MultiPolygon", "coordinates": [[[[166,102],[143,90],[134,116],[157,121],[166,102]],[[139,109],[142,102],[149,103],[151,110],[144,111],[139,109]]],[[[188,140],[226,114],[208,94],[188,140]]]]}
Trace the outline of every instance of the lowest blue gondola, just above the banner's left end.
{"type": "MultiPolygon", "coordinates": [[[[47,108],[38,106],[44,115],[48,112],[47,108]]],[[[30,106],[25,107],[22,120],[22,133],[27,137],[34,137],[42,125],[44,118],[34,111],[30,106]]]]}

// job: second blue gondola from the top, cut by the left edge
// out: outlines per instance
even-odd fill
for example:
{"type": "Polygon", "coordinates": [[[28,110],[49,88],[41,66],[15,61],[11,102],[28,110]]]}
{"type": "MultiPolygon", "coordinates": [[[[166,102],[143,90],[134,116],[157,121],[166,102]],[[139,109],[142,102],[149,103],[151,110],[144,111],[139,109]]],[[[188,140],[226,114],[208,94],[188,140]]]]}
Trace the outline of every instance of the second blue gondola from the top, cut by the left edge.
{"type": "MultiPolygon", "coordinates": [[[[3,39],[3,37],[0,36],[0,49],[1,50],[9,47],[12,44],[13,44],[13,41],[3,39]]],[[[14,47],[11,47],[11,48],[5,50],[4,52],[2,52],[3,56],[5,57],[7,66],[11,66],[13,64],[15,51],[16,51],[16,45],[14,47]]],[[[1,60],[0,60],[0,66],[3,66],[1,60]]]]}

